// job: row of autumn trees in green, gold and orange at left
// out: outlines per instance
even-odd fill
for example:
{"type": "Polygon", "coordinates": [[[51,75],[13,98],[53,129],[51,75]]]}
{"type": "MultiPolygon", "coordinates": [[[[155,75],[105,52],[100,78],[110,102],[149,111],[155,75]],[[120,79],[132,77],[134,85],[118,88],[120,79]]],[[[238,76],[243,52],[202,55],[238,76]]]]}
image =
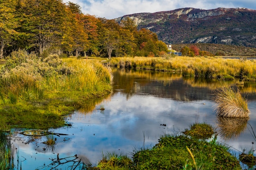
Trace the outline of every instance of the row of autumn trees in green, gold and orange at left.
{"type": "Polygon", "coordinates": [[[18,49],[39,56],[159,56],[167,51],[157,35],[131,20],[83,14],[78,4],[62,0],[1,0],[0,58],[18,49]]]}

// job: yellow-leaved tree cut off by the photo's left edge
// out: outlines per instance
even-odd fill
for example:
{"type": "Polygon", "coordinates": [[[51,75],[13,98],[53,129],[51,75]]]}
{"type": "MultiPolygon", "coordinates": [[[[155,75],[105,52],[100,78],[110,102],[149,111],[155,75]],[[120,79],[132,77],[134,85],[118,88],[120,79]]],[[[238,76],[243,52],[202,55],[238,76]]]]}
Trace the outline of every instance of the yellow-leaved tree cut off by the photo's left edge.
{"type": "Polygon", "coordinates": [[[15,0],[1,0],[0,2],[0,59],[3,58],[4,48],[11,43],[13,36],[17,33],[15,5],[15,0]]]}

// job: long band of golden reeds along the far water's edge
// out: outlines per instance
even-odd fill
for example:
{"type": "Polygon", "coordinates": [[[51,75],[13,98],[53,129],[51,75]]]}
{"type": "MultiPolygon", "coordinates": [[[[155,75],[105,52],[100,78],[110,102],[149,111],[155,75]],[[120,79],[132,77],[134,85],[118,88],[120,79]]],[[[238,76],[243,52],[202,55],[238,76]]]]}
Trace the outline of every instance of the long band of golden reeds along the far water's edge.
{"type": "Polygon", "coordinates": [[[256,61],[214,57],[113,57],[117,67],[182,72],[183,76],[256,81],[256,61]]]}

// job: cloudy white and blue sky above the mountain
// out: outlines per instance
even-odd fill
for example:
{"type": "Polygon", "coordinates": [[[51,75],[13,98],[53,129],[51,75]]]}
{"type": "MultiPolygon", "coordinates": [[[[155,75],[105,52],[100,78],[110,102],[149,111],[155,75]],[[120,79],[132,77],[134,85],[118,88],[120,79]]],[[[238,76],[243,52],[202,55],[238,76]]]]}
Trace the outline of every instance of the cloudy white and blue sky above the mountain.
{"type": "Polygon", "coordinates": [[[84,14],[106,19],[115,19],[133,13],[154,13],[186,7],[256,9],[255,0],[63,0],[63,2],[69,1],[79,4],[84,14]]]}

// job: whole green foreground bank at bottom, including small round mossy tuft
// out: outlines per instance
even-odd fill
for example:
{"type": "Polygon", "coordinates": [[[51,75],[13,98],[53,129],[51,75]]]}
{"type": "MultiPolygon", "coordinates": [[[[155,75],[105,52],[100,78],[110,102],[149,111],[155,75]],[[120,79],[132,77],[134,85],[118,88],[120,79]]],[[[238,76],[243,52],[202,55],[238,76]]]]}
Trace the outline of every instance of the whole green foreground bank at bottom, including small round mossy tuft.
{"type": "Polygon", "coordinates": [[[216,142],[216,136],[205,139],[211,138],[213,130],[205,123],[193,124],[186,135],[164,135],[153,148],[135,150],[132,159],[116,153],[103,155],[98,166],[91,169],[240,170],[238,159],[228,147],[216,142]]]}

